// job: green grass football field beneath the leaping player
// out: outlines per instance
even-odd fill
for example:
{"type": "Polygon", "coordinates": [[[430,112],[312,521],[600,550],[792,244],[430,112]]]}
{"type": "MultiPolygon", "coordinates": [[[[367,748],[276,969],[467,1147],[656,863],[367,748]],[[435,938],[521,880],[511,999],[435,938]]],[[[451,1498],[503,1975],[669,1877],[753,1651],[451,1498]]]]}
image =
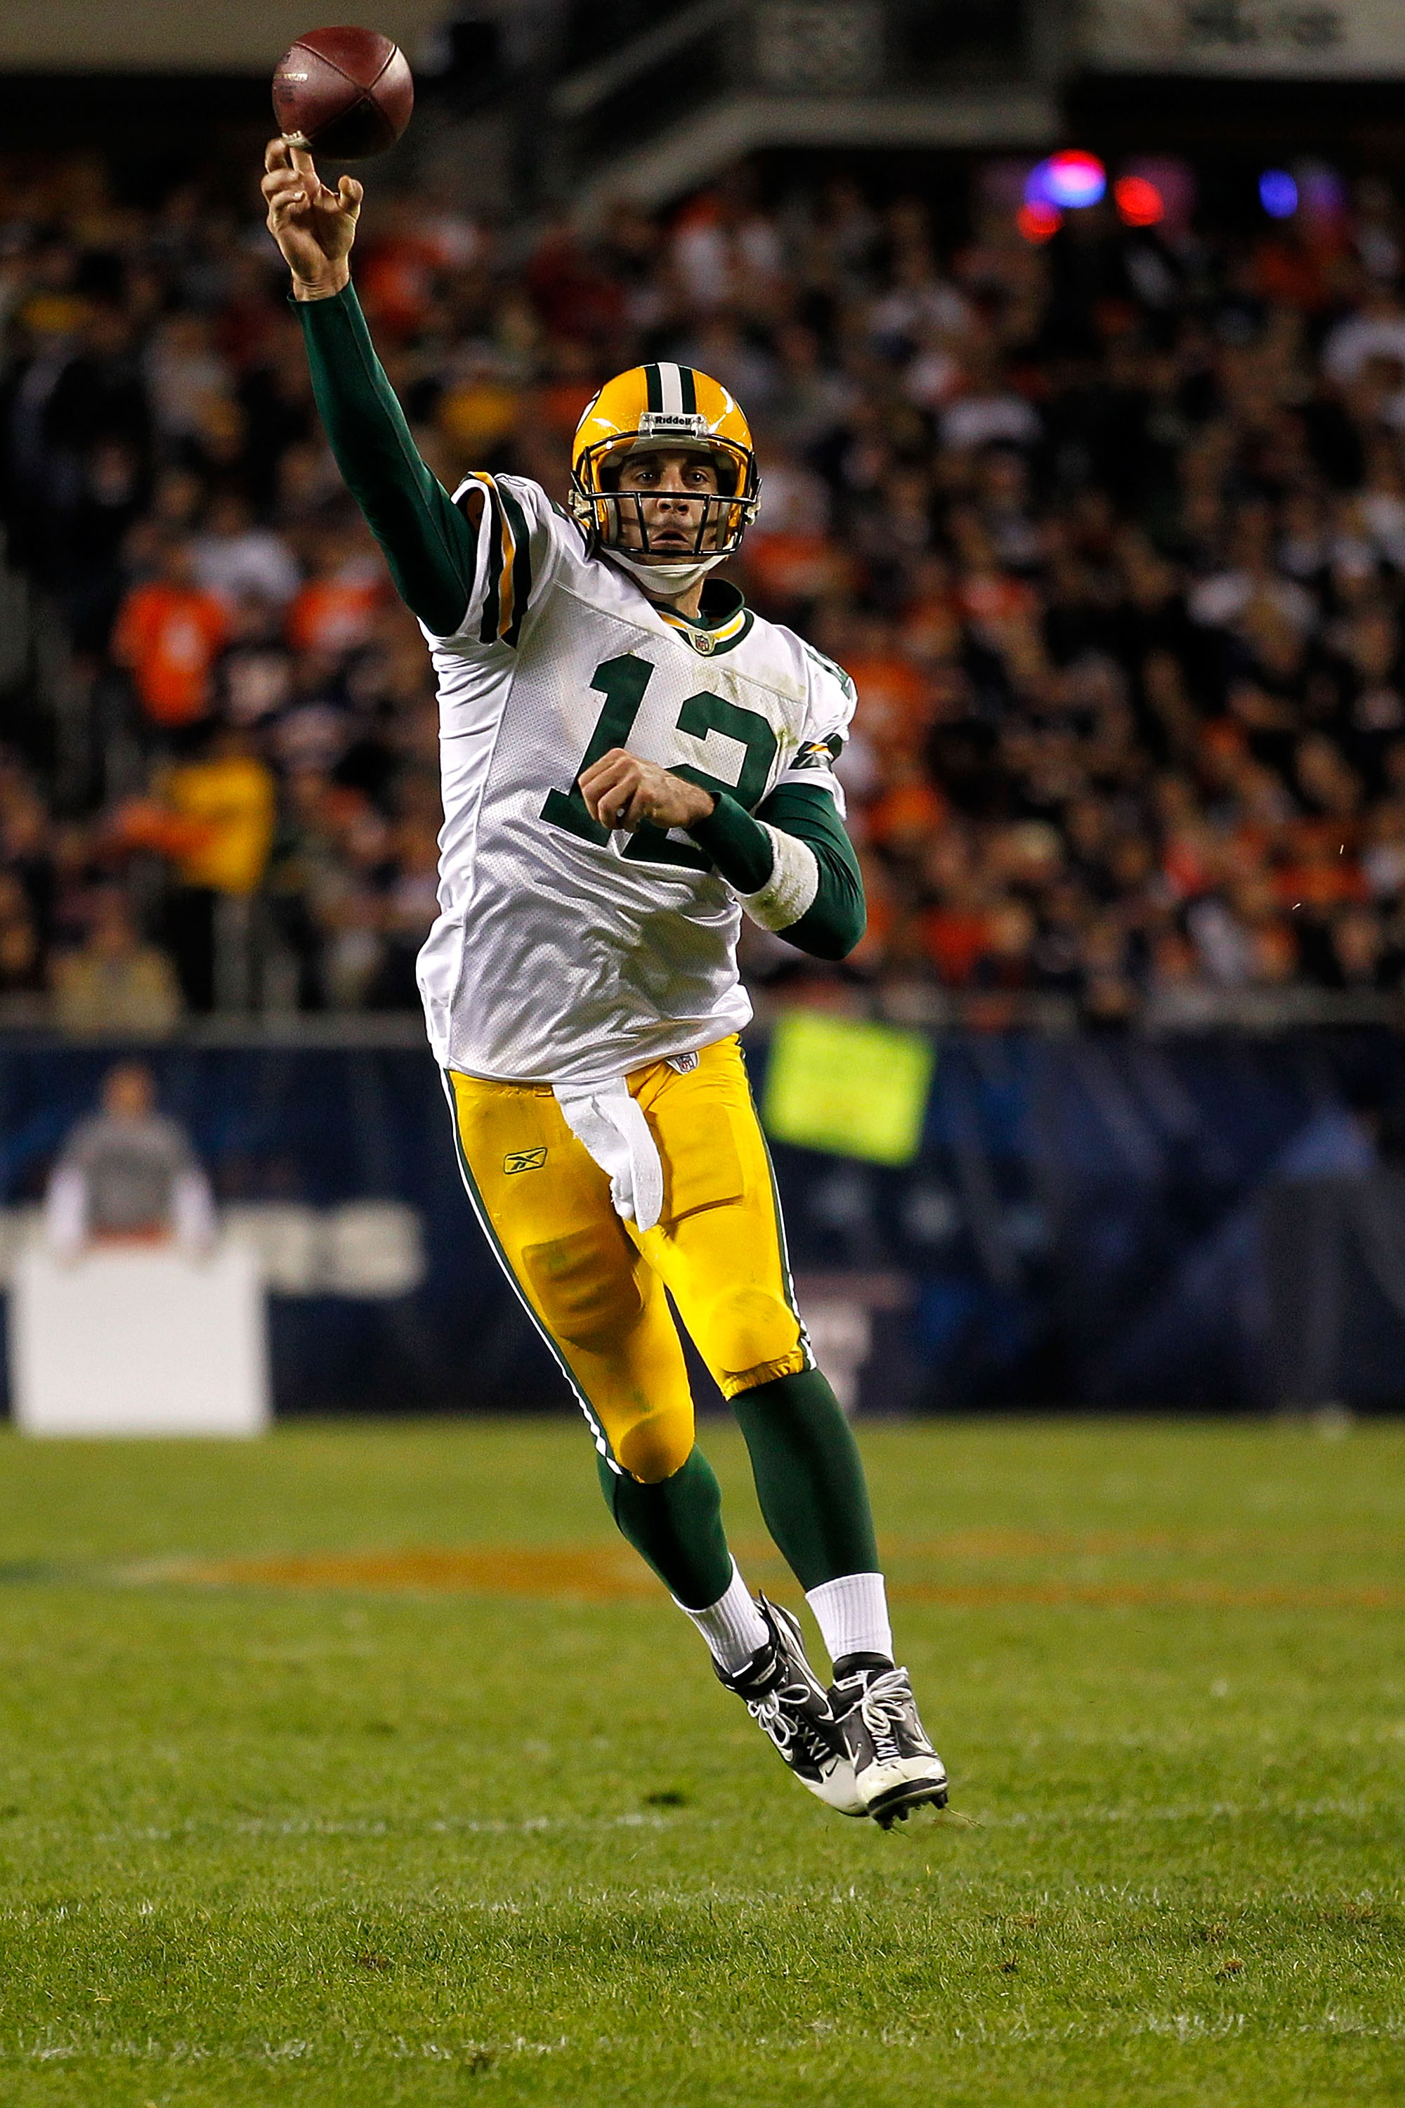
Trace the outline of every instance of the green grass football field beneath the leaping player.
{"type": "Polygon", "coordinates": [[[4,2108],[1405,2102],[1405,1431],[866,1452],[954,1785],[891,1836],[569,1421],[0,1440],[4,2108]]]}

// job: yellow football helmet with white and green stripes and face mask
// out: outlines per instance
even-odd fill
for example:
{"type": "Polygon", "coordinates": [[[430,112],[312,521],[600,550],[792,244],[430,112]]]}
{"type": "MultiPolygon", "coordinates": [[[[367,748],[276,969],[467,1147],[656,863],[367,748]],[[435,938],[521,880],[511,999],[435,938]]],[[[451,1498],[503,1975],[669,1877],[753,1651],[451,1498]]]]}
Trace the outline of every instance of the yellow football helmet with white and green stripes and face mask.
{"type": "Polygon", "coordinates": [[[760,479],[752,432],[720,382],[693,367],[655,360],[630,367],[607,382],[575,428],[571,447],[571,514],[598,548],[619,546],[619,508],[634,497],[638,542],[632,554],[649,557],[642,493],[619,491],[628,453],[689,447],[716,466],[720,495],[699,497],[695,559],[723,557],[739,546],[756,519],[760,479]]]}

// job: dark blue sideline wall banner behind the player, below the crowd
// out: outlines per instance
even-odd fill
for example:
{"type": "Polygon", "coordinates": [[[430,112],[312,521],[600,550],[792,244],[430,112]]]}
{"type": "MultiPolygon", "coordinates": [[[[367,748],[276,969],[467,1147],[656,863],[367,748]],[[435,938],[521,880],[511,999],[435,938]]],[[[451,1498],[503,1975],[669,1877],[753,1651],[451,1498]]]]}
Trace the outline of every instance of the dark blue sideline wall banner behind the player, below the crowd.
{"type": "MultiPolygon", "coordinates": [[[[0,1046],[0,1265],[122,1052],[0,1046]]],[[[139,1052],[263,1254],[280,1414],[567,1404],[468,1208],[426,1052],[139,1052]]],[[[767,1046],[748,1054],[765,1105],[767,1046]]],[[[864,1307],[864,1410],[1405,1404],[1390,1033],[950,1033],[916,1069],[910,1162],[773,1138],[817,1339],[822,1307],[864,1307]]]]}

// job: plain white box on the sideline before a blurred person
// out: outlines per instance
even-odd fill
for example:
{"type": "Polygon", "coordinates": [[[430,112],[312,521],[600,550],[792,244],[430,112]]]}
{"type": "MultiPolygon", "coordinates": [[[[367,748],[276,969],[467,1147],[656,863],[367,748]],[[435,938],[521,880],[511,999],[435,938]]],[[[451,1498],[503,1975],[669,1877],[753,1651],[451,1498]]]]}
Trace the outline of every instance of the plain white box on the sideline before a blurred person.
{"type": "Polygon", "coordinates": [[[38,1240],[11,1282],[11,1400],[32,1436],[257,1436],[270,1421],[255,1254],[38,1240]]]}

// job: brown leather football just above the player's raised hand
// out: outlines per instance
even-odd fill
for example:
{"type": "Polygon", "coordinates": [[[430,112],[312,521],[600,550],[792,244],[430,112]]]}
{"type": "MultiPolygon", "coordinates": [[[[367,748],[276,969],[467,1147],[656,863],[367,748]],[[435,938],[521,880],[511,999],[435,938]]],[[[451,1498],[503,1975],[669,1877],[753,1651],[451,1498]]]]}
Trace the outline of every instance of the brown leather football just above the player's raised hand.
{"type": "Polygon", "coordinates": [[[375,30],[308,30],[274,72],[278,131],[326,160],[383,154],[413,108],[404,53],[375,30]]]}

